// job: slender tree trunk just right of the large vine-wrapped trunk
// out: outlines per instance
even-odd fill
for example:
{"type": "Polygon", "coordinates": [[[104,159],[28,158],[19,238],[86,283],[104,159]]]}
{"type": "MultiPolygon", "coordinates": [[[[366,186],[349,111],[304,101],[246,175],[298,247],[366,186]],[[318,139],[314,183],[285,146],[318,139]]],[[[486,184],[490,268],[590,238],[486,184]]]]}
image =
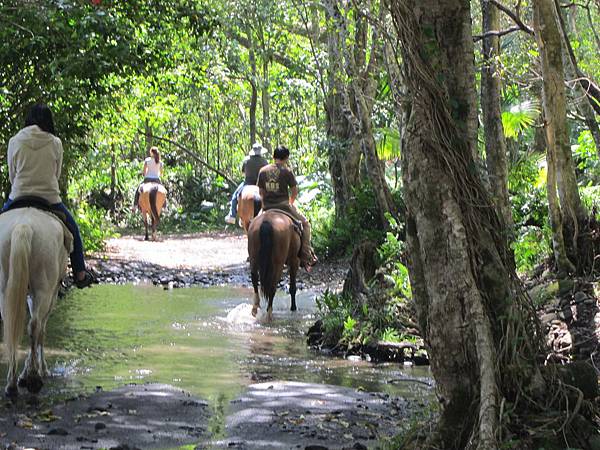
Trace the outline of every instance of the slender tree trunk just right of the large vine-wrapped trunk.
{"type": "MultiPolygon", "coordinates": [[[[500,29],[498,9],[489,0],[481,0],[483,33],[500,29]]],[[[485,154],[490,190],[494,203],[505,224],[512,228],[513,219],[508,197],[508,163],[506,139],[502,128],[500,98],[502,83],[498,68],[500,38],[488,36],[483,39],[483,67],[481,69],[481,109],[485,132],[485,154]]]]}

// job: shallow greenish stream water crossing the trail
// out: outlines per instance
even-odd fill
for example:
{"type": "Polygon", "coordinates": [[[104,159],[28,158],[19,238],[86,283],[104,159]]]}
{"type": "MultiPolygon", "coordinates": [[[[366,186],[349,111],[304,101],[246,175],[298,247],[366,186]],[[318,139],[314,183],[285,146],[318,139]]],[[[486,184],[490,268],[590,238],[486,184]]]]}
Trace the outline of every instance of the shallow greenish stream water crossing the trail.
{"type": "MultiPolygon", "coordinates": [[[[48,324],[46,355],[55,377],[46,395],[130,382],[172,384],[209,401],[217,435],[228,402],[254,382],[279,379],[428,395],[420,383],[388,382],[427,380],[426,369],[332,359],[308,349],[304,333],[314,320],[313,295],[300,294],[298,311],[291,313],[289,297],[281,294],[272,324],[243,315],[245,306],[239,305],[250,301],[245,288],[100,285],[72,291],[58,302],[48,324]],[[227,321],[236,307],[242,315],[227,321]]],[[[0,377],[5,375],[3,363],[0,377]]]]}

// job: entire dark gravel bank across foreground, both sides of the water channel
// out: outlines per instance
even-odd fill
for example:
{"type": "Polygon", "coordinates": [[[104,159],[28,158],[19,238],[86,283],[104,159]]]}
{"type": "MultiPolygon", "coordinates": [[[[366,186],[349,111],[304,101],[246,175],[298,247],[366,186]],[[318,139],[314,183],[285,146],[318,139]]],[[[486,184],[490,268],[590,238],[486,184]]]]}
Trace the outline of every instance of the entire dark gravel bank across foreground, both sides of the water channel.
{"type": "Polygon", "coordinates": [[[271,381],[232,400],[224,433],[212,436],[203,400],[173,386],[129,385],[55,404],[44,412],[50,422],[23,404],[0,409],[0,448],[361,450],[401,431],[413,409],[422,406],[383,393],[271,381]]]}

